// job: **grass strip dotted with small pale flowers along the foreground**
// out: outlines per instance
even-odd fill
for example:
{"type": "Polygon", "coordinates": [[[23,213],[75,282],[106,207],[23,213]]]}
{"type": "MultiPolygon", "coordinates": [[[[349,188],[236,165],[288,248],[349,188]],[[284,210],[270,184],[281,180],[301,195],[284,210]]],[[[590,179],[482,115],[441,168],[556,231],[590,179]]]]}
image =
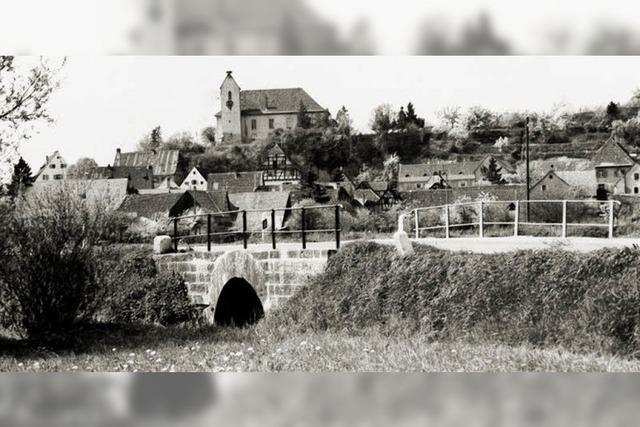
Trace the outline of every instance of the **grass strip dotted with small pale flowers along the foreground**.
{"type": "Polygon", "coordinates": [[[345,372],[345,371],[640,371],[640,361],[500,344],[431,342],[375,330],[287,334],[262,322],[244,330],[93,327],[69,349],[7,341],[1,371],[345,372]]]}

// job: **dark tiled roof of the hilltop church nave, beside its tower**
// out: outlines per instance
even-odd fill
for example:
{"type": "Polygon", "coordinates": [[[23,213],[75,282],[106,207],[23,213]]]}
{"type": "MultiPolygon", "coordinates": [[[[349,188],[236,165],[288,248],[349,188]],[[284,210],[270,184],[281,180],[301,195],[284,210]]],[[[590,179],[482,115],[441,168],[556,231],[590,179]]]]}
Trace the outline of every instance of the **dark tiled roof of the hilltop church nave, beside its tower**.
{"type": "Polygon", "coordinates": [[[310,113],[324,111],[302,88],[240,91],[240,110],[243,113],[297,113],[301,102],[310,113]]]}

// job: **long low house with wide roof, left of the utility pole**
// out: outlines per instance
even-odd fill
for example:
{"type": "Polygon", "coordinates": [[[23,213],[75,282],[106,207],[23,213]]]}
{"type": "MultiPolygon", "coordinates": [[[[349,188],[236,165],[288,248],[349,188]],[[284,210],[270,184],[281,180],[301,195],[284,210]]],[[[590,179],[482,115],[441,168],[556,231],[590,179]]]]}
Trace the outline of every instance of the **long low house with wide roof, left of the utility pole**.
{"type": "MultiPolygon", "coordinates": [[[[434,190],[446,187],[473,187],[488,184],[483,169],[489,166],[492,156],[476,161],[442,161],[423,164],[400,164],[398,169],[398,190],[402,192],[434,190]]],[[[495,158],[504,173],[512,173],[513,168],[495,158]]]]}

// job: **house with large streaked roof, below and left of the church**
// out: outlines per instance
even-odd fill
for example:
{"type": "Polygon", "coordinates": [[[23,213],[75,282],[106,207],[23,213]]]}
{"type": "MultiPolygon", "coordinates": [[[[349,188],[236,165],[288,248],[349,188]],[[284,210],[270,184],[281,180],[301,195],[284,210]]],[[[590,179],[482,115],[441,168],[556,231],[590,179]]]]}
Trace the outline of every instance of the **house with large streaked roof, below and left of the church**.
{"type": "Polygon", "coordinates": [[[113,166],[149,168],[153,172],[154,188],[179,188],[176,179],[184,176],[184,164],[179,150],[151,150],[123,153],[116,149],[113,166]]]}

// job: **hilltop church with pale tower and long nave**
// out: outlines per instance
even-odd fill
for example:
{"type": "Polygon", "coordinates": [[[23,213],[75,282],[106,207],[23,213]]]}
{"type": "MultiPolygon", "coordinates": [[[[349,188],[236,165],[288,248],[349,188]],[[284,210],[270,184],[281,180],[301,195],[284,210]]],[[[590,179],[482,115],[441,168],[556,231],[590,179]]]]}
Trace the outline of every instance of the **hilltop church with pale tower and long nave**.
{"type": "Polygon", "coordinates": [[[301,105],[312,120],[327,112],[302,88],[242,90],[227,71],[220,86],[216,140],[252,142],[267,139],[278,129],[295,129],[301,105]]]}

